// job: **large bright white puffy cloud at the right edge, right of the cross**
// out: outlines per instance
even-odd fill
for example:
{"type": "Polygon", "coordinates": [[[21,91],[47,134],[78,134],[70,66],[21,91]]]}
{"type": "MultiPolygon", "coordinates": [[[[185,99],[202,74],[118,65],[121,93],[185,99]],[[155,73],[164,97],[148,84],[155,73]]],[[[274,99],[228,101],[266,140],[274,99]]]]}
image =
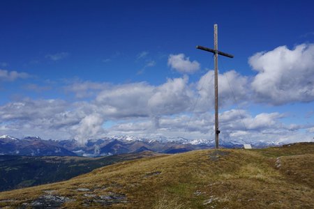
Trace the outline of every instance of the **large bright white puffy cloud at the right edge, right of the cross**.
{"type": "Polygon", "coordinates": [[[257,75],[251,84],[257,102],[281,105],[314,100],[314,45],[277,47],[248,59],[257,75]]]}

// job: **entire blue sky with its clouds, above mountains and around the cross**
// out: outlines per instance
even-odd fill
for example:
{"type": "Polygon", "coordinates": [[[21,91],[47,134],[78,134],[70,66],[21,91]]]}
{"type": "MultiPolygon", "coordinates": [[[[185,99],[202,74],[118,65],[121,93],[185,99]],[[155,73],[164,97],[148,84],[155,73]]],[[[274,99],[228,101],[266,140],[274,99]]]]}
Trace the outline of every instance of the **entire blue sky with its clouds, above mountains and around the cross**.
{"type": "Polygon", "coordinates": [[[221,137],[312,140],[313,6],[1,1],[0,134],[211,139],[217,23],[221,137]]]}

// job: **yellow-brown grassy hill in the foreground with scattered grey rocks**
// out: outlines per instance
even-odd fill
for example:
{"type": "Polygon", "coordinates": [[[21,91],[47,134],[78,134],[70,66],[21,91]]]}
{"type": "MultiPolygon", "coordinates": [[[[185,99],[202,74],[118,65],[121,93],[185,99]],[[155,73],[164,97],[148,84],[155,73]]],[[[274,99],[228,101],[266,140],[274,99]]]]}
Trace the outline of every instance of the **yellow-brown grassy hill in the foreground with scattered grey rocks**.
{"type": "Polygon", "coordinates": [[[0,193],[0,207],[314,208],[314,144],[197,150],[0,193]]]}

